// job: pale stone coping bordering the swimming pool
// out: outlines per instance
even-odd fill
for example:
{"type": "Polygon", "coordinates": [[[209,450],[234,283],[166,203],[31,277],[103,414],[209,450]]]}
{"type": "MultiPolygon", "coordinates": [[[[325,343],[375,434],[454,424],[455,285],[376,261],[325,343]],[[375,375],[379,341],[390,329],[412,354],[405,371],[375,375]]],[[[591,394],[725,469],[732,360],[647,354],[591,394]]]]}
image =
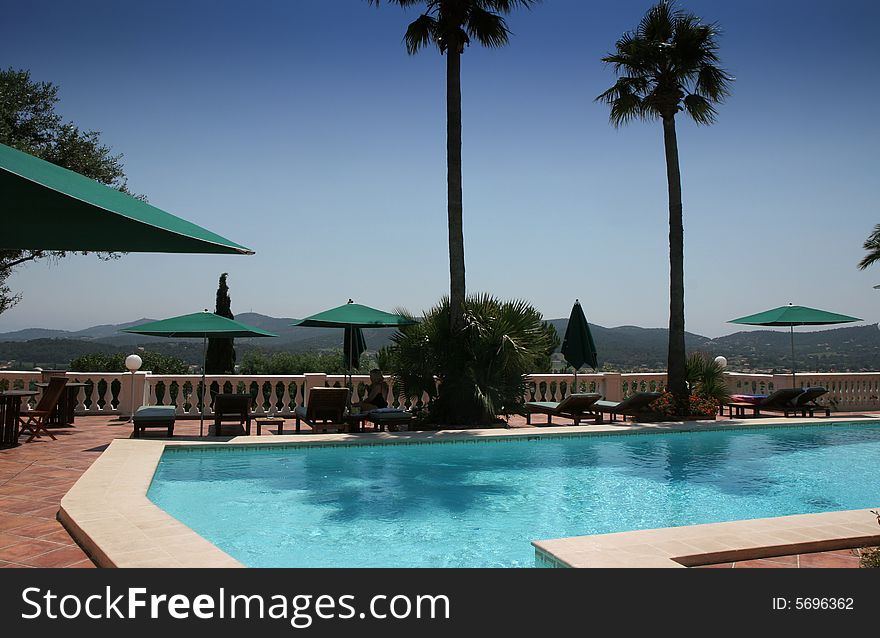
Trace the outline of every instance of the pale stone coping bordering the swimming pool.
{"type": "MultiPolygon", "coordinates": [[[[166,448],[414,444],[849,423],[876,424],[880,420],[772,418],[435,432],[292,434],[273,436],[271,442],[266,441],[267,437],[257,436],[239,436],[223,441],[116,439],[61,499],[58,518],[100,567],[244,567],[147,498],[159,459],[166,448]]],[[[880,526],[866,509],[535,540],[532,544],[538,562],[555,567],[686,567],[742,560],[746,556],[758,558],[880,544],[880,526]]]]}

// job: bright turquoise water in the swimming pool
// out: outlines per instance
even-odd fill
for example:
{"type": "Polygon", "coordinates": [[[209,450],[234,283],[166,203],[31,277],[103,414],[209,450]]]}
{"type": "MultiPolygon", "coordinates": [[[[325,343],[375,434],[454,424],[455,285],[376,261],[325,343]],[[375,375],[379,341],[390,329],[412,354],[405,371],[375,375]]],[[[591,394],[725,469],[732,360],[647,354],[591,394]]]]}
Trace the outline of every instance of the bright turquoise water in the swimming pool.
{"type": "Polygon", "coordinates": [[[251,567],[531,567],[530,541],[880,505],[880,427],[169,449],[149,498],[251,567]]]}

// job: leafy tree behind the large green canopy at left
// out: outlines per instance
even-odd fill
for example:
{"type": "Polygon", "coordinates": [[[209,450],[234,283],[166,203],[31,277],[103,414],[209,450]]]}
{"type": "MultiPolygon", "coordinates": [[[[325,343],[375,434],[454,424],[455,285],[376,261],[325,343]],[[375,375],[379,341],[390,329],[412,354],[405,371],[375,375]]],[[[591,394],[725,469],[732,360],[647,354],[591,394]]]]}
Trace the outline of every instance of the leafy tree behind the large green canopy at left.
{"type": "MultiPolygon", "coordinates": [[[[0,142],[128,193],[122,156],[101,144],[97,131],[82,131],[64,122],[55,110],[57,103],[58,87],[51,82],[32,81],[30,71],[0,70],[0,142]]],[[[17,266],[68,254],[61,250],[0,250],[0,313],[21,299],[6,283],[17,266]]],[[[99,256],[107,259],[115,255],[99,256]]]]}

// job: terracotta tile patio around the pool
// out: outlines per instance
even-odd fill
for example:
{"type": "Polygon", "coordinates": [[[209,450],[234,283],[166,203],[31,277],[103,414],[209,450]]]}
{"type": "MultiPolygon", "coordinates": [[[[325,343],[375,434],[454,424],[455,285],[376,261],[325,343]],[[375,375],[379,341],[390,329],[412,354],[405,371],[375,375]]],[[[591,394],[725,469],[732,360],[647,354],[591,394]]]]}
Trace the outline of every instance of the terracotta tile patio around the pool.
{"type": "MultiPolygon", "coordinates": [[[[565,423],[559,420],[560,425],[565,423]]],[[[286,433],[292,431],[292,425],[292,420],[285,423],[286,433]]],[[[523,417],[512,417],[509,425],[533,427],[527,426],[523,417]]],[[[0,568],[94,567],[56,520],[56,513],[61,497],[80,475],[113,439],[131,438],[132,427],[116,417],[90,416],[77,417],[75,427],[53,428],[52,432],[58,437],[56,441],[43,437],[0,449],[0,568]]],[[[194,438],[198,432],[197,420],[178,420],[174,430],[175,438],[194,438]]],[[[147,437],[161,437],[161,433],[148,432],[147,437]]],[[[225,426],[223,438],[232,433],[233,428],[225,426]]],[[[263,429],[262,436],[273,434],[263,429]]],[[[858,557],[843,550],[704,567],[858,567],[858,557]]]]}

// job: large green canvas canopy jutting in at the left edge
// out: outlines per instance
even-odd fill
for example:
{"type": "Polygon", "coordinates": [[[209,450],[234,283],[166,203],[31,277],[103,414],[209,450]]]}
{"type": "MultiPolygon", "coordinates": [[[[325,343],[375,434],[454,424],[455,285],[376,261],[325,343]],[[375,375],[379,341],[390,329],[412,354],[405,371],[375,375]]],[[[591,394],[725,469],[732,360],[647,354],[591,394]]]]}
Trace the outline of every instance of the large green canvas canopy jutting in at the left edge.
{"type": "Polygon", "coordinates": [[[253,251],[130,195],[0,144],[0,250],[253,251]]]}

